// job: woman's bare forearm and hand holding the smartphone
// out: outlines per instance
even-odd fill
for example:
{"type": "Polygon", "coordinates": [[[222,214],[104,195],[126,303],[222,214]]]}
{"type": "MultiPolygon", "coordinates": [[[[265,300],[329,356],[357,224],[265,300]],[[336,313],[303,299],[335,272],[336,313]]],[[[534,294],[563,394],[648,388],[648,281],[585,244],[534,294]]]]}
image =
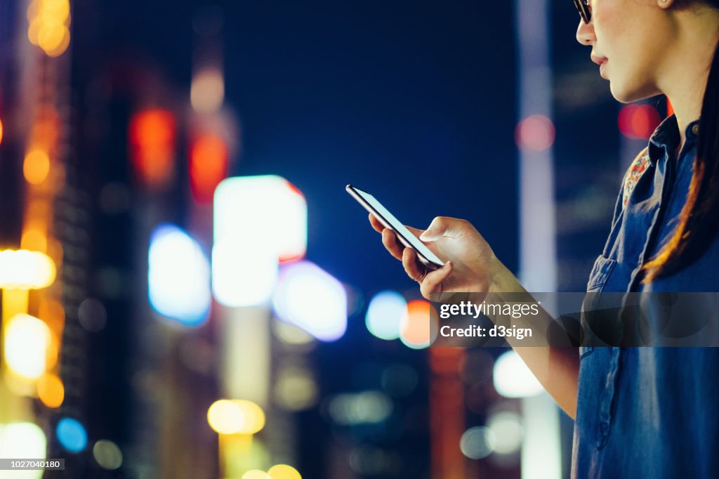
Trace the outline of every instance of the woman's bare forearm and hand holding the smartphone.
{"type": "MultiPolygon", "coordinates": [[[[426,230],[408,227],[434,254],[447,261],[442,268],[429,273],[420,269],[414,251],[399,244],[393,232],[385,229],[372,214],[370,223],[377,232],[382,233],[383,244],[390,254],[402,261],[407,275],[419,283],[425,298],[436,298],[437,293],[462,292],[487,293],[493,301],[534,302],[531,294],[498,260],[482,235],[469,222],[441,216],[435,218],[426,230]],[[524,295],[526,298],[523,298],[524,295]]],[[[549,321],[552,321],[551,316],[540,308],[540,314],[532,317],[532,327],[546,331],[549,321]]],[[[574,418],[577,414],[580,364],[577,348],[521,346],[512,338],[508,342],[559,407],[574,418]]]]}

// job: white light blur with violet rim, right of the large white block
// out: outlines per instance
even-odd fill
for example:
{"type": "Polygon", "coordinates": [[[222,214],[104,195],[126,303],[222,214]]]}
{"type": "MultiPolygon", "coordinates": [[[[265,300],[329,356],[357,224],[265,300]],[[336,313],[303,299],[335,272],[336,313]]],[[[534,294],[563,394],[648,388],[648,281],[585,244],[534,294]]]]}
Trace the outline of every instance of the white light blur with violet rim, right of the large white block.
{"type": "Polygon", "coordinates": [[[275,314],[321,341],[347,329],[347,292],[332,275],[308,261],[288,263],[273,295],[275,314]]]}

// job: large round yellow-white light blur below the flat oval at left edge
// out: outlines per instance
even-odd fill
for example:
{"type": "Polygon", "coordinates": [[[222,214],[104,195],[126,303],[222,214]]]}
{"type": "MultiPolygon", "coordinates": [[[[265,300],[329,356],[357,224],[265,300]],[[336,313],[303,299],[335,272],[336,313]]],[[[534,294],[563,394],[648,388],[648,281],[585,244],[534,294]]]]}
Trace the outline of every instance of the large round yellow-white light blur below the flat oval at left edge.
{"type": "Polygon", "coordinates": [[[3,351],[10,369],[27,379],[37,379],[45,373],[50,328],[29,314],[14,316],[5,330],[3,351]]]}

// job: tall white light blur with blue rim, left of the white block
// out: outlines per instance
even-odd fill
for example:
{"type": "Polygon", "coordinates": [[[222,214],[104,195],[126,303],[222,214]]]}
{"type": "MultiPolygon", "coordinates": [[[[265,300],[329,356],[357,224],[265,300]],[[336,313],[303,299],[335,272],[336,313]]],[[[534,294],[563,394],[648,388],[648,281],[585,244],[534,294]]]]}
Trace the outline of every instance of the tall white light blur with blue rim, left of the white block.
{"type": "Polygon", "coordinates": [[[199,243],[171,224],[152,233],[148,258],[150,304],[158,313],[197,327],[209,314],[210,266],[199,243]]]}

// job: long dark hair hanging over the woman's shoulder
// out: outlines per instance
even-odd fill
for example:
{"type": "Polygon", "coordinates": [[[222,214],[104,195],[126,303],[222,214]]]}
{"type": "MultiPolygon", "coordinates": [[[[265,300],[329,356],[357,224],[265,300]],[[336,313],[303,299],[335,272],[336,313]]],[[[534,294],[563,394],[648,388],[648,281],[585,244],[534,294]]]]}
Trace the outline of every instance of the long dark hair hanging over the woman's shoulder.
{"type": "MultiPolygon", "coordinates": [[[[675,2],[677,4],[697,2],[675,2]]],[[[702,3],[719,9],[719,0],[702,3]]],[[[719,226],[719,45],[709,70],[699,120],[697,155],[687,201],[671,239],[645,263],[643,283],[677,273],[707,250],[719,226]]]]}

